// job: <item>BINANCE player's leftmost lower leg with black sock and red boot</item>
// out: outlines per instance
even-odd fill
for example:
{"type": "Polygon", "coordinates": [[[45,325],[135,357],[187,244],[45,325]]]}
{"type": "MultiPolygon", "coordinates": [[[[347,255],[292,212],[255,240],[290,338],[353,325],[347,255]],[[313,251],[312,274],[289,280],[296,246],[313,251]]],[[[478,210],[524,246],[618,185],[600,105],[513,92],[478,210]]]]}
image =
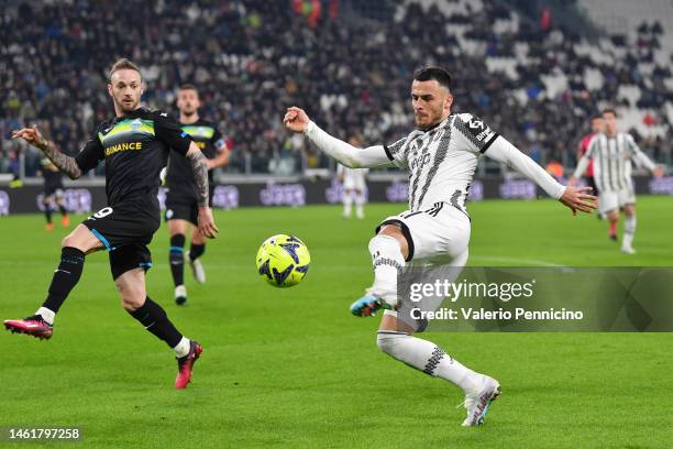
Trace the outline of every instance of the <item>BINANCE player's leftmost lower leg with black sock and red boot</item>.
{"type": "Polygon", "coordinates": [[[4,327],[12,332],[48,339],[54,319],[75,285],[79,282],[87,253],[101,249],[103,243],[84,225],[79,225],[63,239],[60,262],[52,277],[48,294],[42,307],[24,319],[8,319],[4,327]]]}

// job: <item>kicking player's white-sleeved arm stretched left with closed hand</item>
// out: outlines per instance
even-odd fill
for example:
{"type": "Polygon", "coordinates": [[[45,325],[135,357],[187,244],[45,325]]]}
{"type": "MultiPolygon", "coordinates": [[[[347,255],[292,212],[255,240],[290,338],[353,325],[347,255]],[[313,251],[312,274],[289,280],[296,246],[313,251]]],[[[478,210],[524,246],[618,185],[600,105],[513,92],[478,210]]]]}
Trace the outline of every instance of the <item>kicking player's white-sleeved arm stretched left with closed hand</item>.
{"type": "Polygon", "coordinates": [[[288,130],[305,133],[320,150],[346,167],[368,168],[391,164],[383,145],[356,149],[321,130],[300,108],[287,108],[283,122],[288,130]]]}

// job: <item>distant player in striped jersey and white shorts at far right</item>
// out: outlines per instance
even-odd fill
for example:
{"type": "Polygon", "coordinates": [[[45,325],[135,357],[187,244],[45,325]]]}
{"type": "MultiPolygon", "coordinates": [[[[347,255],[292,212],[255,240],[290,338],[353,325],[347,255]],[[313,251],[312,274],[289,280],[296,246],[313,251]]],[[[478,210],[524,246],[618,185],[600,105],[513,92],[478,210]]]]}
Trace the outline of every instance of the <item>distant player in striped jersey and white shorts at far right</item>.
{"type": "Polygon", "coordinates": [[[588,166],[589,160],[594,161],[594,180],[599,191],[598,211],[607,216],[610,222],[610,237],[616,240],[619,210],[624,210],[626,221],[621,251],[627,254],[635,254],[632,243],[636,233],[636,193],[631,179],[631,161],[648,168],[657,177],[663,174],[663,169],[654,165],[640,151],[631,134],[617,132],[617,112],[615,110],[604,110],[603,120],[605,122],[605,133],[597,133],[592,139],[586,153],[577,163],[575,173],[569,182],[574,184],[588,166]]]}

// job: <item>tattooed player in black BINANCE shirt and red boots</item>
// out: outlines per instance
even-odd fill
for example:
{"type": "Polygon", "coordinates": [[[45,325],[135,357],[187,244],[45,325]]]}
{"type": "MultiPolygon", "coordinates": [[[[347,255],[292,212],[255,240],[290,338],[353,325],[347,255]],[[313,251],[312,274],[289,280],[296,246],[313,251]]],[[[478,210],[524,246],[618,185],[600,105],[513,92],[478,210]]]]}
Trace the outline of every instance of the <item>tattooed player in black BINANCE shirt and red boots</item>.
{"type": "MultiPolygon", "coordinates": [[[[78,225],[63,240],[60,263],[42,307],[27,318],[5,320],[4,327],[40,339],[51,338],[58,309],[79,282],[85,256],[106,249],[122,306],[147,331],[174,349],[178,364],[175,387],[184,388],[191,380],[194,363],[202,348],[180,333],[162,306],[147,296],[145,272],[152,266],[147,244],[161,225],[159,172],[166,166],[172,149],[191,161],[199,187],[199,230],[203,236],[216,237],[218,229],[208,207],[206,157],[167,113],[141,107],[143,80],[140,68],[131,61],[119,59],[112,65],[108,94],[112,97],[114,117],[96,128],[76,157],[58,151],[36,127],[14,131],[12,135],[42,150],[71,179],[104,161],[109,206],[78,225]]],[[[82,326],[95,327],[99,319],[104,317],[93,317],[82,326]]]]}

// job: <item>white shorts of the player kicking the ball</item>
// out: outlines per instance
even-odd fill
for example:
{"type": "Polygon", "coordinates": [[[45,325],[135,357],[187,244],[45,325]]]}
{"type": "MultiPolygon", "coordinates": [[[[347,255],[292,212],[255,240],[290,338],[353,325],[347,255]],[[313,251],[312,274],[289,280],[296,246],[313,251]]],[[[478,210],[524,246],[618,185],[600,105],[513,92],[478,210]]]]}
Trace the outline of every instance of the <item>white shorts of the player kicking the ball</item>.
{"type": "MultiPolygon", "coordinates": [[[[407,265],[449,265],[463,267],[467,263],[467,244],[472,227],[470,218],[448,202],[438,202],[422,211],[404,211],[386,218],[376,229],[384,225],[399,225],[409,243],[407,265]]],[[[453,282],[461,270],[450,270],[448,281],[453,282]]],[[[426,303],[429,309],[437,309],[443,297],[426,303]]],[[[397,317],[397,311],[385,310],[385,315],[397,317]]]]}

